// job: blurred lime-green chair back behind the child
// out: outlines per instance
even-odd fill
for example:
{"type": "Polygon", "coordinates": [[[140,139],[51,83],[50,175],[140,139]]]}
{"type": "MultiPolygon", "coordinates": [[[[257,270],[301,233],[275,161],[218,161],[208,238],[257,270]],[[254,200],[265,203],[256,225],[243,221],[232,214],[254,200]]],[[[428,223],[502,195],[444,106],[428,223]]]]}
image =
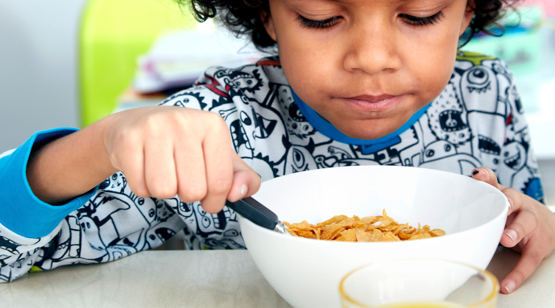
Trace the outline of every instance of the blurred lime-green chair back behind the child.
{"type": "Polygon", "coordinates": [[[130,85],[137,57],[160,33],[195,24],[172,0],[90,0],[79,38],[82,126],[112,113],[130,85]]]}

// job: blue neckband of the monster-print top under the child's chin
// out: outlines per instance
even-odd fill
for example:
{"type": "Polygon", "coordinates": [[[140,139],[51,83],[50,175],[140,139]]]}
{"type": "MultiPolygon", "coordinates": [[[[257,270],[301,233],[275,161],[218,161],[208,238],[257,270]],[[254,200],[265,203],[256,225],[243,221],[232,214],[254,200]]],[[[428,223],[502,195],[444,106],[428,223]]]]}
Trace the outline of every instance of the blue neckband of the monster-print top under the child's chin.
{"type": "Polygon", "coordinates": [[[406,131],[412,125],[414,125],[416,121],[420,119],[420,117],[424,114],[424,112],[426,112],[426,110],[428,110],[428,107],[430,107],[431,105],[430,103],[422,107],[422,109],[416,111],[416,113],[413,114],[405,124],[403,124],[401,127],[399,127],[396,131],[392,132],[391,134],[377,139],[373,139],[373,140],[364,140],[364,139],[352,138],[343,134],[338,129],[336,129],[334,125],[324,120],[324,118],[322,118],[319,114],[317,114],[317,112],[314,111],[314,109],[306,105],[305,102],[302,101],[292,89],[291,89],[291,94],[293,95],[293,99],[295,100],[297,106],[299,107],[299,110],[301,111],[302,115],[305,116],[306,120],[309,121],[310,124],[314,126],[314,128],[317,131],[339,142],[347,143],[349,145],[363,146],[364,148],[366,148],[366,151],[364,152],[371,151],[371,150],[378,151],[400,142],[401,140],[399,138],[399,135],[401,135],[402,132],[406,131]]]}

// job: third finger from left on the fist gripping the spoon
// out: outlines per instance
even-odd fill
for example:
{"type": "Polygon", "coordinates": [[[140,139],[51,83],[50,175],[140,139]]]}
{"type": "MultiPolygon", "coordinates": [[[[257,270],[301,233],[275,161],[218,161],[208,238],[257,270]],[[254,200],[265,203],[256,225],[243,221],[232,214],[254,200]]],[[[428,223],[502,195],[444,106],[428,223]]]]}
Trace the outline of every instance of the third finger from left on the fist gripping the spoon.
{"type": "Polygon", "coordinates": [[[187,136],[175,144],[178,196],[183,202],[196,202],[206,196],[206,170],[200,138],[187,136]]]}

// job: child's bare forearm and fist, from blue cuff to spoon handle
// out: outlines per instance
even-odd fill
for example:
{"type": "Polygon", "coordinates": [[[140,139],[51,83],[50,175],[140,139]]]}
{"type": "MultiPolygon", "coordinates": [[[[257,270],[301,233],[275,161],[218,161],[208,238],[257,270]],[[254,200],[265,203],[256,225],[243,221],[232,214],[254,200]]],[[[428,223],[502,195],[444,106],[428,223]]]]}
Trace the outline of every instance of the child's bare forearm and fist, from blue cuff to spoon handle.
{"type": "Polygon", "coordinates": [[[213,112],[143,107],[108,116],[48,143],[27,166],[29,186],[61,204],[122,171],[140,197],[201,200],[218,213],[225,200],[258,190],[260,178],[231,150],[228,127],[213,112]],[[60,172],[63,171],[63,172],[60,172]]]}

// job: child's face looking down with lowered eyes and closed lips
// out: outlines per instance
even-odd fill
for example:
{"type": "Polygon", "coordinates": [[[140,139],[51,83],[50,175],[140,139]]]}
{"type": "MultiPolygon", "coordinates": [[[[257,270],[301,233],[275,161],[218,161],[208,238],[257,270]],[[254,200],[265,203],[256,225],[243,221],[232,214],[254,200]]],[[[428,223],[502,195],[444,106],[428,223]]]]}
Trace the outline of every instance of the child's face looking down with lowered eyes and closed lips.
{"type": "Polygon", "coordinates": [[[467,0],[270,0],[265,25],[295,93],[344,134],[374,139],[445,88],[467,11],[467,0]]]}

